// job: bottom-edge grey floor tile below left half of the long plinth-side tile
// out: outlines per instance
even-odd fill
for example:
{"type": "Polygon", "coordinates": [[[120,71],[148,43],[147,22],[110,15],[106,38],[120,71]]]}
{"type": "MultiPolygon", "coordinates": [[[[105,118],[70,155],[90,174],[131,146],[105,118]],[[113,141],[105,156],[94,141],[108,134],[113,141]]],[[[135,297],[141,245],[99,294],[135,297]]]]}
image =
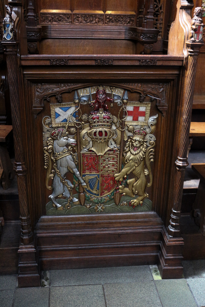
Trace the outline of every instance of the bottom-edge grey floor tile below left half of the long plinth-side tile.
{"type": "Polygon", "coordinates": [[[103,289],[96,286],[53,287],[50,307],[105,307],[103,289]]]}

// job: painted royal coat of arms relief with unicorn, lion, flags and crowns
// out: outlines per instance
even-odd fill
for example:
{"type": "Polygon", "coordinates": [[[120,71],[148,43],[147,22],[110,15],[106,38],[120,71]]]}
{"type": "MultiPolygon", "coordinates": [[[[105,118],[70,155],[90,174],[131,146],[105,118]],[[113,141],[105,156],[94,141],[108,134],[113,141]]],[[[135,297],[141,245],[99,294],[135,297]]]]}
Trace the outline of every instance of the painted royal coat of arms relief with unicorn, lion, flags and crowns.
{"type": "Polygon", "coordinates": [[[106,86],[76,90],[73,102],[50,104],[51,117],[43,119],[46,187],[53,190],[48,210],[128,212],[144,204],[158,116],[150,116],[150,105],[129,102],[126,90],[106,86]],[[93,110],[82,114],[84,104],[93,110]],[[115,115],[108,104],[116,104],[115,115]]]}

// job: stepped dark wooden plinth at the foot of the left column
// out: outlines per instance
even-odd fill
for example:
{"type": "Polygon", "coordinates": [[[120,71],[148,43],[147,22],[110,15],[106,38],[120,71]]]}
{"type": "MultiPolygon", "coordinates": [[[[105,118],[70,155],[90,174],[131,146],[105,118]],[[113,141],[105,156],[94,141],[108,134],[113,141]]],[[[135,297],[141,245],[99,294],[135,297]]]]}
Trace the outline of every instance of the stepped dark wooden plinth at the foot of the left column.
{"type": "Polygon", "coordinates": [[[33,245],[20,245],[18,287],[39,287],[40,275],[36,262],[36,250],[33,245]]]}

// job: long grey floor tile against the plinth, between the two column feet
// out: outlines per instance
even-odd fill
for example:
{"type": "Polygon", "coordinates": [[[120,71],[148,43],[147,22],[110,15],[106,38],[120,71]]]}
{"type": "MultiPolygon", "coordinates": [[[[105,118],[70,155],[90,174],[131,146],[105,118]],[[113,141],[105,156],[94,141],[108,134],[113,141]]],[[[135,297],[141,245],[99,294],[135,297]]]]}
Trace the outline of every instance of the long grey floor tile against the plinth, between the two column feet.
{"type": "Polygon", "coordinates": [[[51,286],[95,285],[112,282],[137,282],[139,280],[152,280],[149,266],[51,271],[51,286]]]}

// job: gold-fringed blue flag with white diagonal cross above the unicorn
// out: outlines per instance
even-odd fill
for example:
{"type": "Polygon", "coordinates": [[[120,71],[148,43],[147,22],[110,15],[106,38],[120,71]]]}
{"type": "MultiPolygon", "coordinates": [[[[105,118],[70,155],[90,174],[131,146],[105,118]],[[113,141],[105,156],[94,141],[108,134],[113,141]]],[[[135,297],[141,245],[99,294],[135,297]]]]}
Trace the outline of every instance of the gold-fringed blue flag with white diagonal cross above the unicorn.
{"type": "Polygon", "coordinates": [[[76,118],[76,106],[74,103],[51,104],[51,120],[53,127],[65,126],[67,121],[69,126],[73,125],[76,118]],[[68,120],[69,119],[69,120],[68,120]]]}

